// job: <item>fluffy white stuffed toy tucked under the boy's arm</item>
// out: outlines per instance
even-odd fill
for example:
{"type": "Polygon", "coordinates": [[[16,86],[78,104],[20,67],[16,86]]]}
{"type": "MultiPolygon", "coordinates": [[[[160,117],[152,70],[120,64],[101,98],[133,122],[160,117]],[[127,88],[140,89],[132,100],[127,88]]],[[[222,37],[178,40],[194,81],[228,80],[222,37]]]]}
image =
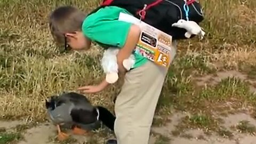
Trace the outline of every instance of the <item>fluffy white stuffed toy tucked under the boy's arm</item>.
{"type": "MultiPolygon", "coordinates": [[[[117,65],[117,53],[119,49],[116,47],[109,47],[103,53],[101,59],[101,66],[104,73],[106,73],[106,81],[108,83],[115,83],[118,79],[118,65],[117,65]]],[[[135,63],[134,55],[131,54],[128,59],[123,61],[123,66],[126,70],[130,70],[135,63]]]]}

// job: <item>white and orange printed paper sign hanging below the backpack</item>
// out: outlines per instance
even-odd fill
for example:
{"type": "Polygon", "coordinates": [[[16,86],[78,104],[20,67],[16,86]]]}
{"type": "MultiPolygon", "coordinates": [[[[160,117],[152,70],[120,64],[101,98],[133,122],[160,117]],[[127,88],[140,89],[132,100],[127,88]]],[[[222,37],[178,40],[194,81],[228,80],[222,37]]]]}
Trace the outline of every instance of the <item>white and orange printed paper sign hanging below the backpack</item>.
{"type": "Polygon", "coordinates": [[[118,20],[134,23],[141,28],[135,52],[154,61],[157,65],[166,68],[170,66],[171,55],[173,55],[171,54],[172,36],[126,13],[121,12],[118,20]]]}

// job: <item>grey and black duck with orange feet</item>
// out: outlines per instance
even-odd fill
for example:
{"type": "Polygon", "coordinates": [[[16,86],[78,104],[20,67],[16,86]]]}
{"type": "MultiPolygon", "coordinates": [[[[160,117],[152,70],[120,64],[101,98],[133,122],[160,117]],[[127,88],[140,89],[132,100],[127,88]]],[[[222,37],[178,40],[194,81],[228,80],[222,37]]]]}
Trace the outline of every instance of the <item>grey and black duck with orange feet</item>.
{"type": "Polygon", "coordinates": [[[116,117],[105,107],[93,106],[83,94],[64,92],[45,100],[50,120],[58,129],[58,139],[66,140],[69,135],[61,127],[72,129],[74,134],[83,135],[98,129],[100,122],[114,131],[116,117]]]}

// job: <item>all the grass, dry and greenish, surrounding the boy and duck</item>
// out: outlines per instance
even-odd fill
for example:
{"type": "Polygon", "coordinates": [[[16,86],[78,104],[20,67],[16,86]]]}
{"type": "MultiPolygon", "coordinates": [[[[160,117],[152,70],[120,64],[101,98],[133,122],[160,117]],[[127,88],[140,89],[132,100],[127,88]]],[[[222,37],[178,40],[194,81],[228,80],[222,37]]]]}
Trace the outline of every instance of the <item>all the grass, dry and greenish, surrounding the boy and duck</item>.
{"type": "MultiPolygon", "coordinates": [[[[98,3],[0,1],[0,119],[43,122],[45,98],[101,81],[102,49],[94,45],[86,53],[62,53],[61,47],[52,42],[47,26],[47,17],[57,6],[71,4],[89,12],[98,3]]],[[[180,127],[220,131],[221,122],[216,115],[242,107],[255,109],[255,94],[244,79],[226,77],[213,86],[207,82],[202,87],[196,85],[195,77],[221,70],[240,70],[255,79],[256,1],[203,0],[201,4],[205,13],[201,26],[206,37],[203,41],[197,38],[180,41],[157,105],[155,125],[169,122],[168,117],[175,109],[189,114],[180,127]]],[[[115,84],[88,98],[113,110],[113,97],[120,87],[115,84]]],[[[220,131],[221,135],[227,133],[220,131]]]]}

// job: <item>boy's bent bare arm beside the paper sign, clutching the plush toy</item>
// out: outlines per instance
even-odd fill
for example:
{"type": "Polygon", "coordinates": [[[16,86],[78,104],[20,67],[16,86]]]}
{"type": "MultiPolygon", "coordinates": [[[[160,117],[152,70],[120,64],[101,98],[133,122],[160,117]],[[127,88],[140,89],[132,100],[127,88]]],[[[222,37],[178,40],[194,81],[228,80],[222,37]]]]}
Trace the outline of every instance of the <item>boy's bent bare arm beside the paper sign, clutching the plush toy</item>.
{"type": "Polygon", "coordinates": [[[137,25],[132,25],[123,48],[119,50],[117,54],[117,64],[120,72],[125,72],[123,61],[130,57],[132,51],[135,49],[135,46],[139,41],[139,37],[140,27],[137,25]]]}

